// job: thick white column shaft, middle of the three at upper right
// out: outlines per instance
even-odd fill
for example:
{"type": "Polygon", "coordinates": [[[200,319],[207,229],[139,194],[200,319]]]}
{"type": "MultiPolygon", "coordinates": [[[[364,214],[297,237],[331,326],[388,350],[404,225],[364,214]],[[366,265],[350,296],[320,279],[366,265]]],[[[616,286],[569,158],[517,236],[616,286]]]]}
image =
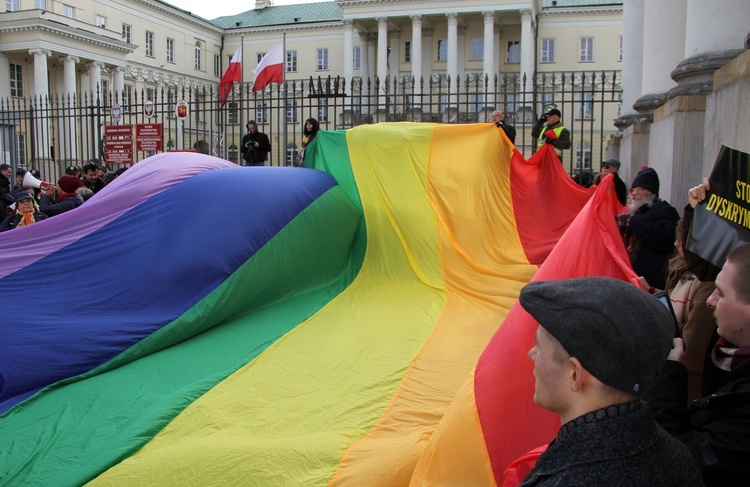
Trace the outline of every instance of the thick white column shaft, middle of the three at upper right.
{"type": "Polygon", "coordinates": [[[663,103],[658,97],[676,86],[670,73],[685,53],[685,10],[686,0],[644,2],[642,96],[639,101],[651,95],[655,100],[648,103],[655,104],[651,109],[663,103]],[[669,19],[669,22],[664,19],[669,19]]]}

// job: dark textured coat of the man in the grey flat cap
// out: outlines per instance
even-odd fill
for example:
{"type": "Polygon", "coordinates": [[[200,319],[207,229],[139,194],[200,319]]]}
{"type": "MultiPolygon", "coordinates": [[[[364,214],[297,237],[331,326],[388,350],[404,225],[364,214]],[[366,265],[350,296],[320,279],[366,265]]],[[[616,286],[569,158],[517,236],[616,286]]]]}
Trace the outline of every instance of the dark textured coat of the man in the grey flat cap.
{"type": "Polygon", "coordinates": [[[636,404],[630,412],[589,422],[587,414],[564,425],[521,486],[703,485],[687,448],[656,425],[646,403],[636,404]]]}

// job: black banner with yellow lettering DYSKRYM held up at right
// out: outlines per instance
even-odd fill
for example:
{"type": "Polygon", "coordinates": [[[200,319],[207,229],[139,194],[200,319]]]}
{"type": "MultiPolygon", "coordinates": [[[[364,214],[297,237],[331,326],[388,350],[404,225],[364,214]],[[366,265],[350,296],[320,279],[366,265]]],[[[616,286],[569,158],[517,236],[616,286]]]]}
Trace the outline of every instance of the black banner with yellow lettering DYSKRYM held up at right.
{"type": "Polygon", "coordinates": [[[695,207],[687,248],[715,266],[750,242],[750,155],[722,146],[706,199],[695,207]]]}

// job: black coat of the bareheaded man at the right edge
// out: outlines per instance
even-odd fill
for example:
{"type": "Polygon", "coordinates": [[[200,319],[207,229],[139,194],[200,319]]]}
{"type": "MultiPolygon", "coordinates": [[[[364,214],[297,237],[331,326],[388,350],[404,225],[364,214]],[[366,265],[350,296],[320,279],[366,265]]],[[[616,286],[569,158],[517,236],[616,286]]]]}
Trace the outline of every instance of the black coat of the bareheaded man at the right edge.
{"type": "Polygon", "coordinates": [[[731,373],[710,365],[714,373],[704,373],[703,390],[713,393],[690,409],[687,369],[672,360],[644,399],[656,421],[688,447],[706,485],[744,485],[750,479],[750,360],[731,373]]]}

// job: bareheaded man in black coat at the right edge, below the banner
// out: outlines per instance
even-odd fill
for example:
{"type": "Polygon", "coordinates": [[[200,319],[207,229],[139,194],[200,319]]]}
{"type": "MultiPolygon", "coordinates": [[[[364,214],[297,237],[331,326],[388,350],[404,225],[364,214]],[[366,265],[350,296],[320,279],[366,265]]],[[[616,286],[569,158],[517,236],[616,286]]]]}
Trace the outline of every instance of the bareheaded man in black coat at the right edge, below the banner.
{"type": "MultiPolygon", "coordinates": [[[[691,189],[691,203],[695,197],[691,189]]],[[[701,201],[705,197],[705,188],[701,201]]],[[[688,373],[677,338],[669,360],[646,392],[657,422],[690,449],[706,485],[750,479],[750,243],[727,255],[707,304],[718,340],[703,373],[703,395],[687,407],[688,373]]]]}

